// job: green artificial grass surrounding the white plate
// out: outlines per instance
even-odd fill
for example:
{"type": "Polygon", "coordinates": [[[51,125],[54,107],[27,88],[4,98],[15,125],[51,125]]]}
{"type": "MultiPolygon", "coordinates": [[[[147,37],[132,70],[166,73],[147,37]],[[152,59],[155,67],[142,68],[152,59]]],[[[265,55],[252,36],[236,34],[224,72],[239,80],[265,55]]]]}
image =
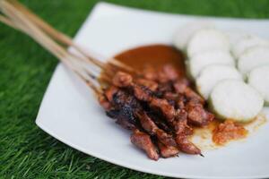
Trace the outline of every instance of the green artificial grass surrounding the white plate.
{"type": "MultiPolygon", "coordinates": [[[[70,36],[79,30],[97,2],[22,1],[70,36]]],[[[269,18],[269,1],[266,0],[108,2],[169,13],[269,18]]],[[[84,155],[36,126],[39,104],[56,64],[56,58],[30,38],[0,24],[0,178],[163,178],[84,155]]]]}

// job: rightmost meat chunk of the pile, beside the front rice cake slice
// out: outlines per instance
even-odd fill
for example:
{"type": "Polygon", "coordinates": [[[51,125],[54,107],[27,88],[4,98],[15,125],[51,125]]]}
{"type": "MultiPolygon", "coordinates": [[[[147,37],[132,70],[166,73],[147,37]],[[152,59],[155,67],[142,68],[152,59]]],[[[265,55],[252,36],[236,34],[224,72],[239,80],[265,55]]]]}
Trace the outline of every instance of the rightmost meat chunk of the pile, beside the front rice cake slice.
{"type": "Polygon", "coordinates": [[[214,115],[206,111],[203,105],[197,100],[187,102],[187,120],[190,124],[204,126],[213,121],[214,115]]]}

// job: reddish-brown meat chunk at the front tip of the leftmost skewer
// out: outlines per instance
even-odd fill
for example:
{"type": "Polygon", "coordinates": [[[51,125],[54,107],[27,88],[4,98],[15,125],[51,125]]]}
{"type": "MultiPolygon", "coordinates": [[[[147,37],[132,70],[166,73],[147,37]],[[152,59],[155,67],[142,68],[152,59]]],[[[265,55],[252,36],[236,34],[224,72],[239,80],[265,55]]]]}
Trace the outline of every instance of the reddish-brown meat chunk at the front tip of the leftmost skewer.
{"type": "Polygon", "coordinates": [[[146,152],[148,158],[153,160],[159,159],[158,150],[152,143],[150,135],[146,134],[145,132],[140,132],[136,129],[131,135],[131,142],[139,149],[143,149],[143,151],[146,152]]]}

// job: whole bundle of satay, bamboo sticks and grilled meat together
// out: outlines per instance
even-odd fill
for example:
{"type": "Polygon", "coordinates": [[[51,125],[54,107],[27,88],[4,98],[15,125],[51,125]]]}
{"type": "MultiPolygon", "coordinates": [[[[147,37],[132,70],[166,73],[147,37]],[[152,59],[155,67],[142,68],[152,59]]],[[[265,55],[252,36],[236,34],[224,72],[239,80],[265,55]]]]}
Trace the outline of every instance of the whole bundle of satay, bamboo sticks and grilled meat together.
{"type": "Polygon", "coordinates": [[[147,66],[137,72],[117,59],[104,63],[19,2],[2,0],[0,9],[0,21],[36,40],[96,93],[106,114],[131,131],[131,142],[148,158],[170,158],[180,151],[203,156],[189,137],[194,126],[209,124],[214,115],[173,66],[147,66]]]}

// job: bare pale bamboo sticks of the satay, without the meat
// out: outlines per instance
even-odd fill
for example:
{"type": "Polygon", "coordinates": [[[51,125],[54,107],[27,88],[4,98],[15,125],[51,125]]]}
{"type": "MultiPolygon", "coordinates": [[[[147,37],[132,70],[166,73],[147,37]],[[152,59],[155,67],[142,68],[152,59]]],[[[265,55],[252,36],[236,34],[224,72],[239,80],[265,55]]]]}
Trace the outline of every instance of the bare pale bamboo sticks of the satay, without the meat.
{"type": "Polygon", "coordinates": [[[0,21],[16,30],[21,30],[35,39],[42,47],[45,47],[50,53],[56,55],[61,62],[74,71],[97,93],[100,93],[99,88],[94,84],[94,81],[98,80],[97,75],[86,68],[83,63],[89,65],[89,62],[91,62],[91,64],[103,69],[104,75],[102,75],[101,81],[106,81],[107,83],[110,83],[111,76],[118,70],[134,72],[132,68],[115,59],[110,61],[112,63],[105,64],[91,57],[81,47],[74,44],[71,38],[53,29],[48,23],[42,21],[37,15],[31,13],[30,10],[16,0],[0,0],[0,9],[5,15],[0,14],[0,21]],[[63,45],[74,47],[79,52],[79,55],[67,51],[63,45]]]}

